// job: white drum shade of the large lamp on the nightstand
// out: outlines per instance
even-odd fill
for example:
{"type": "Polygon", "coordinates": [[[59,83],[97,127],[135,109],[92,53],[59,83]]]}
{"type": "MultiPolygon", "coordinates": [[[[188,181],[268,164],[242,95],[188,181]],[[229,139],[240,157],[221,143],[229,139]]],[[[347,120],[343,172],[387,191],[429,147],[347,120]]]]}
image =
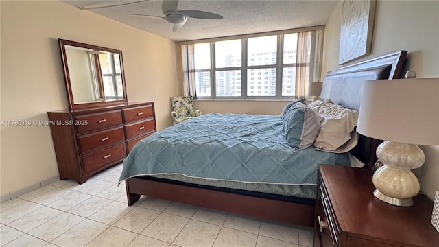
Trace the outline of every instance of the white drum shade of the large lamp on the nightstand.
{"type": "Polygon", "coordinates": [[[364,82],[357,132],[385,141],[439,145],[439,78],[364,82]]]}

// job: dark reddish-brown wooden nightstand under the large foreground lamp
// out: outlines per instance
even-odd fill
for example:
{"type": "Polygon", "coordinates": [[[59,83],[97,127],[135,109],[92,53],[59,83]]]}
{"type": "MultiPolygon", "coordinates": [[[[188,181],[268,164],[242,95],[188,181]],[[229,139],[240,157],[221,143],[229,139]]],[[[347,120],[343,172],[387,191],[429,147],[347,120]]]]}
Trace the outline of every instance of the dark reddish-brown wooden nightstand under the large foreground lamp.
{"type": "Polygon", "coordinates": [[[373,196],[372,171],[319,165],[314,246],[439,246],[433,202],[396,207],[373,196]]]}

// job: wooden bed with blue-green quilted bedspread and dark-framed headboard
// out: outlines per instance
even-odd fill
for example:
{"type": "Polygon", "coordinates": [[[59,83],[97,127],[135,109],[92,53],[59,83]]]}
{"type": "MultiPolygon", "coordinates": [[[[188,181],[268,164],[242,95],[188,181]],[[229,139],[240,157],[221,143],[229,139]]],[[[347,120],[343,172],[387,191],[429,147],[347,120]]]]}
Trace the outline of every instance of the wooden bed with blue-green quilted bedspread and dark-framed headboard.
{"type": "MultiPolygon", "coordinates": [[[[398,51],[329,71],[321,99],[359,110],[362,82],[399,78],[406,55],[398,51]]],[[[360,135],[355,148],[342,153],[295,149],[283,125],[280,115],[209,113],[139,141],[120,178],[128,205],[144,195],[313,226],[318,164],[350,165],[354,156],[371,167],[379,141],[360,135]]]]}

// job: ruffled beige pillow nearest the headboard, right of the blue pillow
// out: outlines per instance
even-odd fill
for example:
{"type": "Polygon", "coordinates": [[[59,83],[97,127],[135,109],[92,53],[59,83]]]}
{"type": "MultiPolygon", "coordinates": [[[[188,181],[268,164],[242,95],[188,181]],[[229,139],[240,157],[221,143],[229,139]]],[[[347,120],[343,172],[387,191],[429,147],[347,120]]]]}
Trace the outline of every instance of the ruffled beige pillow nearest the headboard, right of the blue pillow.
{"type": "Polygon", "coordinates": [[[355,130],[358,112],[331,102],[318,100],[309,104],[320,119],[320,131],[314,146],[327,152],[348,152],[358,143],[355,130]]]}

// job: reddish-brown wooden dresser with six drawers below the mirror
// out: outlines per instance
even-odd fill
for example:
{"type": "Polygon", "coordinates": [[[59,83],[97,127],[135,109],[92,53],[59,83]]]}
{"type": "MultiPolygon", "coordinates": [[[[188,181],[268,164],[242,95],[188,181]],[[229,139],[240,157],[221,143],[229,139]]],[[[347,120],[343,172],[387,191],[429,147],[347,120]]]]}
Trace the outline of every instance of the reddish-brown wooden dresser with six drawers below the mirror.
{"type": "Polygon", "coordinates": [[[60,179],[84,183],[156,132],[154,102],[48,112],[60,179]]]}

